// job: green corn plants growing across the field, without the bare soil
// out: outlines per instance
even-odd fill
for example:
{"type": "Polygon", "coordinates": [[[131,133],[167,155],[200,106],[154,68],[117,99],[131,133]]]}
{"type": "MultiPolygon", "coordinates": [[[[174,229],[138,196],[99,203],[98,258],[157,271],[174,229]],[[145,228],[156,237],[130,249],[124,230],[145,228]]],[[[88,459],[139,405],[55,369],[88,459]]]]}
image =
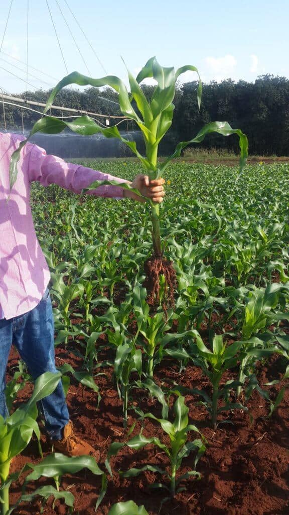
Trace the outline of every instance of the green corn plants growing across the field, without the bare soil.
{"type": "MultiPolygon", "coordinates": [[[[131,161],[84,164],[126,179],[135,172],[131,161]]],[[[288,166],[247,167],[238,183],[236,173],[223,165],[185,162],[166,169],[170,184],[161,213],[161,237],[165,254],[174,261],[178,282],[175,306],[166,314],[161,306],[164,285],[160,284],[159,307],[151,312],[147,303],[143,263],[150,253],[151,236],[142,206],[85,196],[76,200],[54,186],[47,191],[38,185],[32,188],[35,225],[52,272],[56,346],[81,358],[75,369],[68,364],[59,367],[65,389],[70,381],[80,382],[91,389],[97,407],[105,395],[99,390],[98,376],[112,368],[123,425],[129,432],[121,441],[112,442],[107,474],[113,474],[114,456],[122,448],[137,452],[155,445],[167,456],[166,469],[150,462],[121,471],[121,475],[160,474],[164,479],[155,487],[167,490],[170,496],[184,488],[190,477],[198,477],[197,462],[206,448],[193,410],[188,409],[187,396],[202,403],[208,413],[207,424],[216,428],[230,419],[234,410],[247,410],[247,401],[256,391],[267,401],[266,416],[270,417],[287,387],[288,166]],[[284,379],[278,397],[272,397],[270,385],[261,388],[256,368],[260,360],[266,363],[274,353],[280,356],[284,379]],[[159,383],[157,371],[162,363],[176,365],[179,372],[200,369],[207,387],[185,388],[177,377],[174,384],[159,383]],[[161,415],[152,412],[149,404],[144,410],[142,403],[140,409],[141,392],[156,399],[161,415]],[[137,419],[143,427],[140,432],[130,422],[137,419]],[[144,436],[148,419],[159,424],[164,438],[144,436]],[[182,460],[191,452],[193,467],[182,473],[182,460]]],[[[26,447],[32,433],[39,438],[33,397],[20,414],[18,410],[12,414],[17,391],[27,381],[29,375],[20,364],[7,387],[11,416],[1,421],[3,438],[15,445],[10,451],[5,444],[1,454],[0,496],[5,515],[13,508],[8,504],[9,487],[19,476],[18,472],[17,477],[9,473],[11,459],[26,447]],[[25,430],[19,429],[22,423],[25,430]],[[16,432],[12,437],[13,431],[25,433],[21,447],[16,446],[19,439],[16,432]]],[[[277,382],[276,378],[271,386],[277,382]]],[[[61,474],[71,465],[67,462],[67,469],[61,468],[63,458],[51,456],[46,462],[44,459],[43,468],[30,473],[29,480],[54,471],[46,476],[55,478],[56,488],[42,487],[39,495],[43,499],[51,494],[62,496],[71,508],[73,500],[66,495],[70,492],[59,488],[61,474]],[[59,473],[53,469],[56,459],[59,473]]],[[[75,471],[78,466],[81,464],[75,464],[75,471]]],[[[106,474],[97,464],[89,466],[103,477],[101,500],[106,474]]],[[[23,500],[29,501],[29,495],[23,494],[23,500]]],[[[111,511],[125,513],[125,509],[132,510],[128,513],[146,512],[133,502],[118,503],[111,511]]]]}

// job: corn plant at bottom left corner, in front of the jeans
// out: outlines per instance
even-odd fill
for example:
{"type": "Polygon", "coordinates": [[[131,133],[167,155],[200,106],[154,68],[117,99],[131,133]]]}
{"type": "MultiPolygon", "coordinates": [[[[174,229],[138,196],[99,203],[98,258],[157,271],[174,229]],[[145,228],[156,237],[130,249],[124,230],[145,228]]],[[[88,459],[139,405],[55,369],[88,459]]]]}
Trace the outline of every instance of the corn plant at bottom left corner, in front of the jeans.
{"type": "Polygon", "coordinates": [[[40,375],[35,381],[32,396],[27,404],[17,408],[6,420],[0,416],[0,504],[2,515],[10,513],[9,488],[13,480],[13,477],[9,477],[11,460],[27,447],[33,433],[40,446],[40,431],[36,422],[37,402],[55,390],[60,378],[60,373],[45,372],[40,375]]]}

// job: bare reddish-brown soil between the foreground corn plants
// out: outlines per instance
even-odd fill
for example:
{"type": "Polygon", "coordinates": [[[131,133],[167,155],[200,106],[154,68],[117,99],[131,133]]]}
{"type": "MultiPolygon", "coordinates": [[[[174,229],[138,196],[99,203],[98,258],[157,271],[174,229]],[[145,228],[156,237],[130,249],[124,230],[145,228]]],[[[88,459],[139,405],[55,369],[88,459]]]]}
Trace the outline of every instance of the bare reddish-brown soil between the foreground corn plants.
{"type": "MultiPolygon", "coordinates": [[[[71,351],[72,346],[78,347],[77,342],[69,342],[68,349],[56,348],[57,364],[70,363],[79,369],[81,360],[71,351]]],[[[112,357],[111,351],[101,353],[100,359],[112,357]]],[[[12,349],[8,378],[11,377],[13,367],[17,364],[17,353],[12,349]]],[[[261,386],[273,379],[280,379],[285,370],[283,359],[278,356],[270,358],[265,365],[259,366],[258,376],[261,386]]],[[[96,377],[102,400],[96,407],[96,394],[83,388],[71,379],[67,395],[67,403],[73,420],[75,431],[82,435],[89,443],[99,449],[101,453],[100,467],[104,468],[104,460],[109,445],[113,441],[125,441],[127,432],[122,425],[121,401],[115,388],[112,369],[104,369],[105,375],[96,377]]],[[[229,376],[228,376],[229,377],[229,376]]],[[[224,382],[228,380],[224,377],[224,382]]],[[[210,386],[202,375],[200,369],[188,366],[179,373],[173,361],[162,362],[155,371],[158,384],[169,386],[173,381],[186,387],[203,388],[210,392],[210,386]]],[[[274,399],[277,392],[284,385],[283,382],[270,388],[274,399]]],[[[264,387],[267,388],[267,387],[264,387]]],[[[28,398],[31,386],[20,393],[20,402],[28,398]]],[[[113,478],[109,477],[109,486],[104,500],[98,509],[98,515],[107,515],[110,507],[119,501],[133,500],[137,505],[145,505],[150,515],[286,515],[289,513],[289,390],[286,390],[284,400],[271,418],[268,415],[268,405],[255,391],[252,398],[245,405],[248,413],[244,411],[230,411],[221,415],[220,419],[230,423],[219,424],[214,431],[210,427],[209,418],[204,406],[196,404],[197,397],[186,396],[186,404],[190,408],[190,423],[200,428],[208,440],[207,451],[198,462],[197,470],[202,478],[191,478],[184,482],[187,490],[178,493],[173,500],[162,505],[161,500],[166,496],[164,490],[150,490],[154,482],[164,481],[164,477],[152,472],[144,472],[134,479],[121,479],[118,471],[130,467],[142,467],[146,464],[168,467],[164,453],[156,451],[152,446],[141,451],[132,451],[124,448],[112,458],[113,478]]],[[[147,397],[147,392],[134,392],[135,404],[141,409],[151,411],[160,417],[160,405],[147,397]],[[136,402],[137,401],[137,402],[136,402]]],[[[173,402],[173,399],[171,399],[173,402]]],[[[19,400],[17,400],[17,404],[19,400]]],[[[136,422],[132,433],[140,431],[140,422],[133,410],[130,411],[129,426],[136,422]]],[[[164,433],[153,420],[145,419],[143,433],[147,436],[158,436],[166,442],[164,433]]],[[[189,439],[197,435],[190,433],[189,439]]],[[[42,436],[44,456],[51,449],[50,444],[42,436]]],[[[11,472],[20,470],[29,461],[40,460],[37,442],[32,440],[22,455],[18,456],[12,466],[11,472]]],[[[193,469],[194,455],[183,460],[179,475],[193,469]]],[[[23,480],[22,480],[23,483],[23,480]]],[[[42,478],[37,486],[50,483],[49,479],[42,478]]],[[[51,482],[53,484],[53,482],[51,482]]],[[[35,485],[31,485],[32,491],[35,485]]],[[[69,489],[75,495],[74,513],[79,515],[94,515],[95,504],[100,490],[100,479],[89,471],[81,471],[76,475],[65,475],[61,482],[61,489],[69,489]]],[[[11,486],[11,503],[14,503],[21,494],[21,484],[11,486]]],[[[21,504],[14,513],[18,515],[37,515],[40,513],[40,501],[35,500],[30,505],[21,504]]],[[[52,508],[52,500],[44,506],[44,515],[68,513],[68,508],[57,501],[52,508]]]]}

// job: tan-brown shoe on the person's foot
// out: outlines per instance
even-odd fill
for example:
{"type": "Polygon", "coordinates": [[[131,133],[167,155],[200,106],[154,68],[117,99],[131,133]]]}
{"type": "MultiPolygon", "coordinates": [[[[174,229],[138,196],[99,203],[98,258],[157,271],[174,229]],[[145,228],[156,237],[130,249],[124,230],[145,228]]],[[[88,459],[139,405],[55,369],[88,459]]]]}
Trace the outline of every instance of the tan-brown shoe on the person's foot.
{"type": "Polygon", "coordinates": [[[90,455],[99,461],[99,452],[74,434],[71,420],[63,428],[63,438],[61,440],[52,440],[52,443],[57,451],[66,456],[90,455]]]}

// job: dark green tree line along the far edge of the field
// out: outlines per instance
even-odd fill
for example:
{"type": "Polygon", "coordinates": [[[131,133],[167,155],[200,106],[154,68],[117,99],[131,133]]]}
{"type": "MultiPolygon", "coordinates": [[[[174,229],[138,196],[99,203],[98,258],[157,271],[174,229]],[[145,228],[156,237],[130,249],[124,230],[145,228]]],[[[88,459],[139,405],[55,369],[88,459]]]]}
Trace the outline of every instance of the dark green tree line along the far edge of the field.
{"type": "MultiPolygon", "coordinates": [[[[154,88],[142,85],[142,89],[146,96],[151,98],[154,88]]],[[[227,79],[220,83],[212,81],[209,84],[203,84],[200,112],[197,108],[196,89],[196,81],[178,84],[174,100],[173,124],[166,139],[161,143],[161,153],[166,155],[179,141],[192,139],[204,124],[212,121],[227,121],[233,128],[240,128],[247,134],[251,155],[289,155],[289,80],[287,78],[263,75],[254,83],[244,80],[234,82],[227,79]]],[[[45,103],[50,91],[38,90],[14,96],[45,103]]],[[[87,88],[82,91],[65,89],[58,94],[56,104],[106,114],[112,117],[111,125],[113,125],[113,116],[122,114],[118,105],[114,103],[117,99],[117,93],[110,88],[103,90],[87,88]]],[[[0,106],[0,130],[3,130],[4,113],[1,101],[0,106]]],[[[59,110],[53,111],[52,114],[61,116],[69,113],[59,110]]],[[[5,115],[7,130],[10,131],[21,131],[23,125],[25,129],[29,129],[39,118],[37,113],[7,105],[5,115]]],[[[103,123],[103,119],[101,121],[103,123]]],[[[119,128],[131,130],[133,127],[129,122],[129,125],[124,123],[119,128]]],[[[134,130],[137,130],[136,126],[134,130]]],[[[238,152],[238,138],[233,136],[222,138],[212,134],[204,140],[202,147],[238,152]]]]}

